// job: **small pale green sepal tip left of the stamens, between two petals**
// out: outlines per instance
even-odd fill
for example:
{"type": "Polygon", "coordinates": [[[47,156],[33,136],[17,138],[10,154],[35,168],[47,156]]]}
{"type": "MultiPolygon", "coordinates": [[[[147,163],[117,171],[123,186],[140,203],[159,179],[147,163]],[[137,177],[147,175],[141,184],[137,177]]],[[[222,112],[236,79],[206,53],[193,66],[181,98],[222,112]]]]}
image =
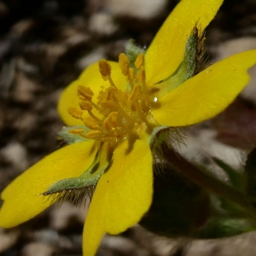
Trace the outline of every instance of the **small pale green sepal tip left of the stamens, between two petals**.
{"type": "Polygon", "coordinates": [[[75,135],[73,133],[70,133],[70,130],[76,130],[76,129],[83,129],[85,134],[86,132],[90,131],[90,129],[84,125],[80,126],[65,126],[62,128],[61,131],[59,131],[57,134],[59,137],[61,137],[67,144],[73,144],[73,143],[82,143],[86,142],[89,139],[78,135],[75,135]]]}

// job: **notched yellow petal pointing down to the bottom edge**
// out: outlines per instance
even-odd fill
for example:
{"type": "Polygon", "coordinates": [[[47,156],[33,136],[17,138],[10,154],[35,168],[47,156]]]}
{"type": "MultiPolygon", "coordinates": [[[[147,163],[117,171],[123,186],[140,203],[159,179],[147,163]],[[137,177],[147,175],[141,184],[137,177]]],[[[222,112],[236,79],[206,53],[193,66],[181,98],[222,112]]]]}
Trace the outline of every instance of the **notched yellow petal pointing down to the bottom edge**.
{"type": "Polygon", "coordinates": [[[102,175],[85,220],[84,255],[96,254],[102,236],[125,231],[148,211],[153,193],[153,160],[148,143],[139,141],[126,153],[122,143],[113,165],[102,175]]]}

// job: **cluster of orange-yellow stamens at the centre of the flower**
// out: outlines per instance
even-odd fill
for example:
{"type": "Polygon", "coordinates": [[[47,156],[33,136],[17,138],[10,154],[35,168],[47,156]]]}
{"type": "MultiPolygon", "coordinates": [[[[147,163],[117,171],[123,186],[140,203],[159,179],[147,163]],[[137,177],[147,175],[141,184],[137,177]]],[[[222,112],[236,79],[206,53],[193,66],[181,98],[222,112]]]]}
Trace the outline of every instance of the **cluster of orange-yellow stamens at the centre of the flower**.
{"type": "Polygon", "coordinates": [[[102,79],[108,80],[108,88],[99,92],[95,102],[93,91],[89,87],[79,85],[79,108],[68,108],[68,113],[76,119],[81,119],[90,131],[85,134],[83,129],[69,132],[109,143],[120,143],[127,138],[148,137],[157,123],[150,111],[154,98],[146,84],[142,53],[137,56],[134,66],[135,68],[130,66],[130,61],[124,53],[119,55],[119,67],[128,82],[128,89],[123,91],[114,84],[108,61],[99,61],[99,71],[102,79]]]}

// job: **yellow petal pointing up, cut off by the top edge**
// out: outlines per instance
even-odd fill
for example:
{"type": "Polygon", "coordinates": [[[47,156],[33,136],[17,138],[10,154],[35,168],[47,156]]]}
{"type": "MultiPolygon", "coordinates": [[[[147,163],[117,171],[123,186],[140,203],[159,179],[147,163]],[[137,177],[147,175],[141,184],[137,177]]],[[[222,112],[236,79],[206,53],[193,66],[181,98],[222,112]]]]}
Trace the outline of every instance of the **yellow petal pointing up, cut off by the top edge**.
{"type": "Polygon", "coordinates": [[[223,0],[182,0],[166,19],[145,55],[148,84],[155,84],[177,69],[195,24],[203,31],[223,0]]]}

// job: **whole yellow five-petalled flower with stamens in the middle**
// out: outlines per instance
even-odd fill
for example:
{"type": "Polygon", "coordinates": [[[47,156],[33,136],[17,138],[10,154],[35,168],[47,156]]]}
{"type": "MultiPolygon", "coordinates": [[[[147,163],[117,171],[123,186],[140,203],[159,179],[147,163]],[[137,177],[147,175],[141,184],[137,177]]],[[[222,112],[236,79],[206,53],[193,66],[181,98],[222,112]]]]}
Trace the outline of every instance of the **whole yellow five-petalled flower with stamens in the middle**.
{"type": "Polygon", "coordinates": [[[94,189],[98,181],[84,225],[84,255],[96,253],[105,233],[119,234],[137,224],[152,201],[149,140],[154,129],[212,118],[249,81],[247,69],[256,62],[256,50],[196,75],[195,63],[184,61],[187,55],[200,57],[201,32],[222,2],[182,0],[134,65],[125,54],[119,55],[119,63],[101,60],[64,90],[59,113],[67,125],[79,125],[68,131],[84,141],[45,157],[3,190],[0,226],[33,218],[59,198],[51,195],[55,192],[68,197],[63,191],[67,184],[64,189],[63,183],[55,185],[63,180],[70,190],[83,189],[84,180],[94,189]]]}

